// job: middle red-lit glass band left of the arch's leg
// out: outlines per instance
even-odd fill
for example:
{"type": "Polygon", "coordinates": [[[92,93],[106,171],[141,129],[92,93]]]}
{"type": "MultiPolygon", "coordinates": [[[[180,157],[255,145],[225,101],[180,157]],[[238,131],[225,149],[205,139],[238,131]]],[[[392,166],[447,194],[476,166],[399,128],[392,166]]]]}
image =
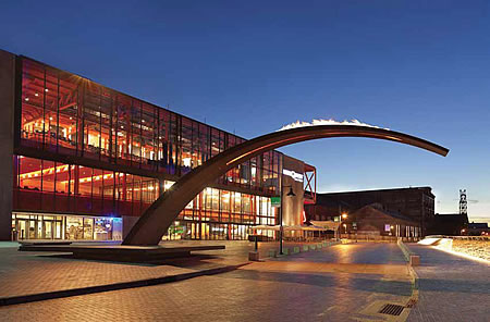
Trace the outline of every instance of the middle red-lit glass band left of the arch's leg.
{"type": "Polygon", "coordinates": [[[157,178],[14,157],[13,208],[23,211],[140,215],[160,195],[157,178]]]}

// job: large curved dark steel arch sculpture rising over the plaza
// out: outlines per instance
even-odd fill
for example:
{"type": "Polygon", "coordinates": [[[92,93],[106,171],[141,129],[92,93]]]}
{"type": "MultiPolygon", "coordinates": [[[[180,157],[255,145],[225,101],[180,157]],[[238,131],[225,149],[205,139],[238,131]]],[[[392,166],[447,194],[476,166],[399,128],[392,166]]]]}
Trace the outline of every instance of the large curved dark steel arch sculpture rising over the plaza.
{"type": "Polygon", "coordinates": [[[234,146],[182,176],[139,218],[123,245],[158,245],[179,213],[204,188],[234,166],[266,151],[328,137],[369,137],[411,145],[445,157],[446,148],[390,129],[358,125],[317,125],[273,132],[234,146]]]}

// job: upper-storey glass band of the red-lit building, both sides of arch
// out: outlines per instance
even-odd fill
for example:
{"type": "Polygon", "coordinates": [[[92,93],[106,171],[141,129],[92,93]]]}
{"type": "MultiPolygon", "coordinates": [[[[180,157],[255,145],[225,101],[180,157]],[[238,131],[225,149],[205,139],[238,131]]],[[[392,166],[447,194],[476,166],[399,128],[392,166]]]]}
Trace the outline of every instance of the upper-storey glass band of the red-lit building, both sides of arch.
{"type": "MultiPolygon", "coordinates": [[[[181,176],[244,141],[86,78],[22,60],[21,147],[181,176]]],[[[280,153],[229,171],[219,183],[275,193],[280,153]]]]}

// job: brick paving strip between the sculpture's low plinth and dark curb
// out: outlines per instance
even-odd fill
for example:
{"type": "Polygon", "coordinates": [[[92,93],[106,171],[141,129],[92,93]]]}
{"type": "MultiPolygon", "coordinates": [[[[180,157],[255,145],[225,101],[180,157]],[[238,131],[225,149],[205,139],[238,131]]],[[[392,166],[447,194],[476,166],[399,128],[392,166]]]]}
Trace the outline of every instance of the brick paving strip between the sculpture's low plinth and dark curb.
{"type": "Polygon", "coordinates": [[[195,256],[166,260],[161,264],[121,263],[63,258],[59,253],[20,252],[16,247],[0,247],[0,297],[158,278],[246,262],[236,257],[195,256]]]}

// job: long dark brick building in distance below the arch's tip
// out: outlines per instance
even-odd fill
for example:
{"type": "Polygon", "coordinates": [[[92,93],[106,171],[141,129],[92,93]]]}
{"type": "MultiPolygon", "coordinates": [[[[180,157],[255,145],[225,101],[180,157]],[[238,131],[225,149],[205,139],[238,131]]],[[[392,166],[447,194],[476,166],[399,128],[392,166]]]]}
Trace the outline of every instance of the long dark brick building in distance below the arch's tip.
{"type": "Polygon", "coordinates": [[[404,216],[427,234],[434,216],[434,198],[430,187],[411,187],[380,190],[317,194],[316,205],[305,205],[307,219],[332,220],[342,213],[354,213],[369,205],[379,205],[379,210],[404,216]]]}

